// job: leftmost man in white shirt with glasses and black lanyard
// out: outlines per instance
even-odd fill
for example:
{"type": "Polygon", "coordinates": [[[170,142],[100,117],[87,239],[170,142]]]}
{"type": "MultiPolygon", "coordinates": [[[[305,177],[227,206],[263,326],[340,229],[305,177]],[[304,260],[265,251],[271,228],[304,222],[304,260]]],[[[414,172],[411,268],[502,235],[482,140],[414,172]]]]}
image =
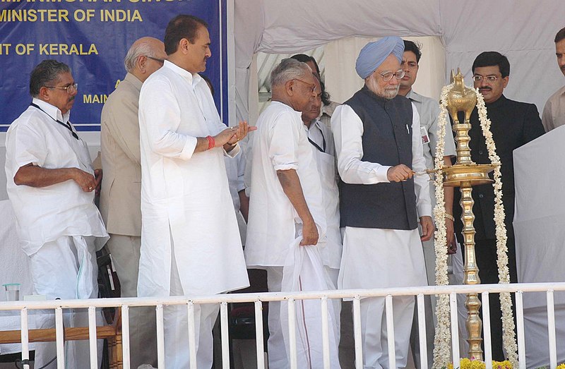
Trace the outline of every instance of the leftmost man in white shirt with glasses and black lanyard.
{"type": "MultiPolygon", "coordinates": [[[[94,205],[102,171],[69,121],[77,84],[69,66],[44,60],[30,77],[33,100],[6,134],[6,178],[18,235],[30,258],[33,293],[55,298],[97,298],[95,251],[108,234],[94,205]]],[[[53,314],[37,317],[52,328],[53,314]]],[[[66,327],[88,325],[85,313],[64,315],[66,327]]],[[[55,357],[55,344],[37,344],[35,367],[55,357]]],[[[65,344],[68,368],[88,366],[88,342],[65,344]]],[[[52,364],[56,365],[56,364],[52,364]]]]}

